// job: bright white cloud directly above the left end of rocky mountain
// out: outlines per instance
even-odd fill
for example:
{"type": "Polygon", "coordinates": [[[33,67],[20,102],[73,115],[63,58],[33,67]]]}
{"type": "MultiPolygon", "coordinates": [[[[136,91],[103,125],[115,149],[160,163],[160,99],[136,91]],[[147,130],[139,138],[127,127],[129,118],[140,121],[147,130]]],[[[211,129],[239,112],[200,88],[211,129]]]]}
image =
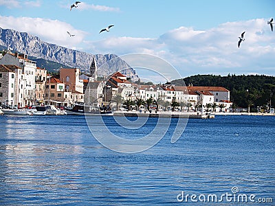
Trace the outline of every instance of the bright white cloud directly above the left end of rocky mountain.
{"type": "Polygon", "coordinates": [[[47,43],[54,43],[72,49],[80,47],[85,35],[87,35],[81,30],[74,29],[68,23],[52,19],[0,16],[0,27],[27,32],[33,36],[38,36],[47,43]],[[70,37],[67,31],[76,36],[70,37]]]}

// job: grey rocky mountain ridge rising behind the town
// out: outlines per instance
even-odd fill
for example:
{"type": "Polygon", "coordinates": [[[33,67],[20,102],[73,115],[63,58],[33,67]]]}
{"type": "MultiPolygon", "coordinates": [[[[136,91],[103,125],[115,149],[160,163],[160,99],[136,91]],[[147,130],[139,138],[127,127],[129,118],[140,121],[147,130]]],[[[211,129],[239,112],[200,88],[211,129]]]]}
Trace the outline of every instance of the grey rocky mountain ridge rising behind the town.
{"type": "MultiPolygon", "coordinates": [[[[98,76],[108,76],[115,71],[122,71],[132,80],[138,76],[124,60],[115,54],[88,54],[74,49],[68,49],[58,45],[41,41],[37,36],[25,32],[17,32],[0,27],[0,45],[8,47],[12,51],[28,54],[37,59],[50,60],[67,67],[80,68],[89,73],[89,67],[93,58],[98,65],[98,76]]],[[[47,68],[46,68],[47,69],[47,68]]]]}

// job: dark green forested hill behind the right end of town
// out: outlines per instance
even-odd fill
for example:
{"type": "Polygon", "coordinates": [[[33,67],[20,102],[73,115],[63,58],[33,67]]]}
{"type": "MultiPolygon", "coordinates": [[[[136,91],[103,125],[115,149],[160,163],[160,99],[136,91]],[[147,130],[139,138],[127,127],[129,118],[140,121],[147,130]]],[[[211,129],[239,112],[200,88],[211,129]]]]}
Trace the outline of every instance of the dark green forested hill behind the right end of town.
{"type": "Polygon", "coordinates": [[[173,80],[171,84],[184,85],[192,84],[193,86],[212,86],[225,87],[230,91],[230,100],[237,106],[244,108],[248,104],[252,108],[257,106],[270,105],[272,97],[272,107],[275,103],[275,77],[264,75],[196,75],[188,78],[173,80]]]}

